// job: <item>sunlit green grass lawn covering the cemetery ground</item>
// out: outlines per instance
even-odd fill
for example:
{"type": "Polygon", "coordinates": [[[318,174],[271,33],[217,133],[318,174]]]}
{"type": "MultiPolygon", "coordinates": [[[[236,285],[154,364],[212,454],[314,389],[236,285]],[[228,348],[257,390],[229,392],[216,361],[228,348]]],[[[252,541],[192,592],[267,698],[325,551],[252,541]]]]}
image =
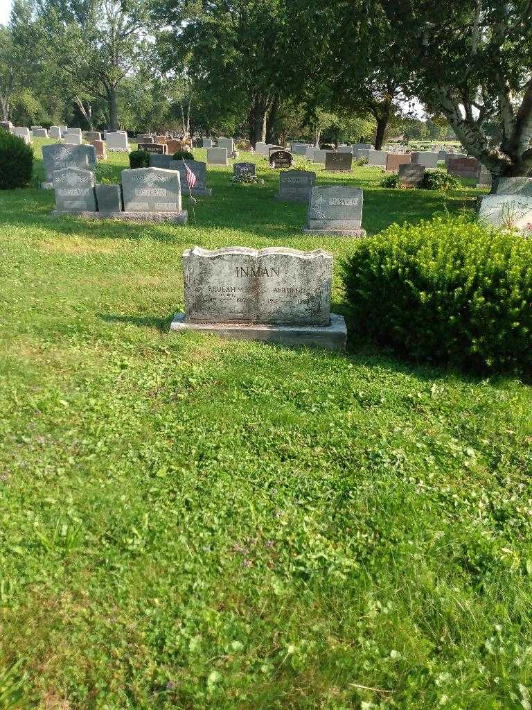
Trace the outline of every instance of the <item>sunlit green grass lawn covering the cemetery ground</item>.
{"type": "MultiPolygon", "coordinates": [[[[170,337],[194,244],[322,246],[349,315],[357,242],[231,171],[184,227],[0,193],[0,710],[530,708],[531,388],[170,337]]],[[[381,179],[318,170],[370,234],[477,195],[381,179]]]]}

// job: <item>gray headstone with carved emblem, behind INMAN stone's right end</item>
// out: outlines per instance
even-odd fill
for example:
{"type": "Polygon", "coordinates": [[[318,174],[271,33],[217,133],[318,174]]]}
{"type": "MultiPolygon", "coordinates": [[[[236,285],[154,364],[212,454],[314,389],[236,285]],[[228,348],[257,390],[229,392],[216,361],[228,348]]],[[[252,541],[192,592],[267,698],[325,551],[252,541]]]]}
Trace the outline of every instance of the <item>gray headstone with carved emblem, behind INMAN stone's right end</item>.
{"type": "Polygon", "coordinates": [[[313,187],[304,231],[365,236],[362,229],[363,193],[360,187],[313,187]]]}

